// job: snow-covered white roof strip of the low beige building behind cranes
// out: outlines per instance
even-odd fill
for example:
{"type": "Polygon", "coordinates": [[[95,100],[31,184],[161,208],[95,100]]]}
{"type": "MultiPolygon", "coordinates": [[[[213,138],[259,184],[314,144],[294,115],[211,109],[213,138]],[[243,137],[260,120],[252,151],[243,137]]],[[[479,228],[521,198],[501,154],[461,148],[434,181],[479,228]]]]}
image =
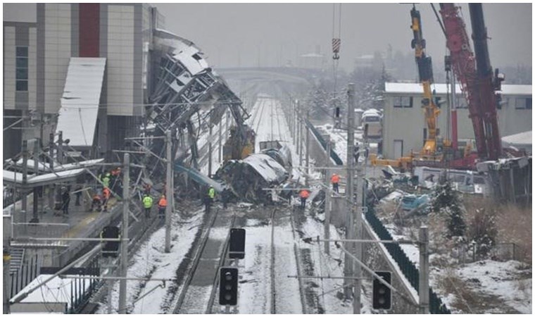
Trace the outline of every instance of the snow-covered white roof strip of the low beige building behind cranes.
{"type": "MultiPolygon", "coordinates": [[[[431,89],[437,94],[446,94],[446,84],[433,84],[431,89]]],[[[460,85],[455,85],[457,94],[462,94],[460,85]]],[[[385,82],[384,92],[387,94],[422,94],[423,88],[420,83],[385,82]]],[[[501,94],[531,96],[531,85],[502,85],[501,94]]]]}

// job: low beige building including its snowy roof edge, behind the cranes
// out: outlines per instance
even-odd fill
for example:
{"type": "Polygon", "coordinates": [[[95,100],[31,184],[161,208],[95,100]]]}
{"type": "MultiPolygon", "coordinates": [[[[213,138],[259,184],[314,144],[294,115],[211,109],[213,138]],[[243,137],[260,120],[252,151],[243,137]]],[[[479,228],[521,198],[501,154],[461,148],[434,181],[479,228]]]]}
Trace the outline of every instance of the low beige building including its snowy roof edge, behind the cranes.
{"type": "MultiPolygon", "coordinates": [[[[439,137],[446,138],[446,85],[432,85],[441,104],[439,137]]],[[[460,85],[456,87],[458,139],[474,140],[472,120],[460,85]]],[[[420,151],[427,137],[427,125],[422,110],[422,85],[386,82],[384,91],[382,153],[387,159],[398,159],[420,151]]],[[[531,131],[531,85],[502,85],[502,102],[498,108],[500,137],[531,131]]]]}

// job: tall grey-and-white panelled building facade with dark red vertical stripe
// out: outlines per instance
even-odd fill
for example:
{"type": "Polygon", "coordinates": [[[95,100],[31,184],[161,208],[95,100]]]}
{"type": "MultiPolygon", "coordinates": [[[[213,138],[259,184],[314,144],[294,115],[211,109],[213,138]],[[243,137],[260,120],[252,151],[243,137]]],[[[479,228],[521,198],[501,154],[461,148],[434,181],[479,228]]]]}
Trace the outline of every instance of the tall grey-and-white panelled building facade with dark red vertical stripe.
{"type": "Polygon", "coordinates": [[[86,109],[98,111],[90,145],[93,156],[120,147],[136,133],[149,101],[151,43],[163,16],[148,4],[42,3],[33,9],[29,22],[12,21],[4,11],[4,126],[19,128],[4,132],[4,159],[20,151],[22,139],[49,142],[72,58],[106,58],[99,103],[86,109]]]}

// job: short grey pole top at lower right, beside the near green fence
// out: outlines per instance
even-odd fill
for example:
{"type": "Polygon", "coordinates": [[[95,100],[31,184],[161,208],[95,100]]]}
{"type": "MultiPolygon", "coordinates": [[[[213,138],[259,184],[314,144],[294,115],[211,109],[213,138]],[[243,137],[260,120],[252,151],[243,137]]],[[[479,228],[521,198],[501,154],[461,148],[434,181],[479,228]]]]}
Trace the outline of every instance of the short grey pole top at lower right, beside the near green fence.
{"type": "Polygon", "coordinates": [[[420,299],[420,313],[429,313],[429,235],[427,226],[422,225],[420,232],[418,232],[418,240],[420,240],[420,290],[418,298],[420,299]]]}

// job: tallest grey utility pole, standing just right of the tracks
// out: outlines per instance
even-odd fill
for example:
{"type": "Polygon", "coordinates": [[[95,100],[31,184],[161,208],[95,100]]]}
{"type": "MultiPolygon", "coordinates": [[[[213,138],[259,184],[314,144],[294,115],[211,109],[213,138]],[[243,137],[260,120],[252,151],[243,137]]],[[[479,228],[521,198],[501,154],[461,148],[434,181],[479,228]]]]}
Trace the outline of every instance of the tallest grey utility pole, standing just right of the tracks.
{"type": "MultiPolygon", "coordinates": [[[[355,133],[354,121],[355,121],[355,111],[353,110],[353,103],[355,101],[355,84],[350,82],[348,84],[348,114],[347,114],[347,158],[346,158],[346,168],[347,168],[347,182],[346,182],[346,201],[348,204],[347,214],[346,214],[346,239],[353,240],[355,239],[355,225],[353,223],[353,144],[355,133]]],[[[353,253],[353,243],[346,242],[346,249],[353,253]]],[[[353,259],[348,254],[345,255],[344,259],[344,275],[346,278],[353,276],[353,259]]],[[[346,294],[346,299],[351,299],[353,297],[351,286],[344,287],[344,294],[346,294]]],[[[360,307],[360,303],[359,307],[360,307]]],[[[355,303],[353,303],[353,312],[355,308],[355,303]]]]}

